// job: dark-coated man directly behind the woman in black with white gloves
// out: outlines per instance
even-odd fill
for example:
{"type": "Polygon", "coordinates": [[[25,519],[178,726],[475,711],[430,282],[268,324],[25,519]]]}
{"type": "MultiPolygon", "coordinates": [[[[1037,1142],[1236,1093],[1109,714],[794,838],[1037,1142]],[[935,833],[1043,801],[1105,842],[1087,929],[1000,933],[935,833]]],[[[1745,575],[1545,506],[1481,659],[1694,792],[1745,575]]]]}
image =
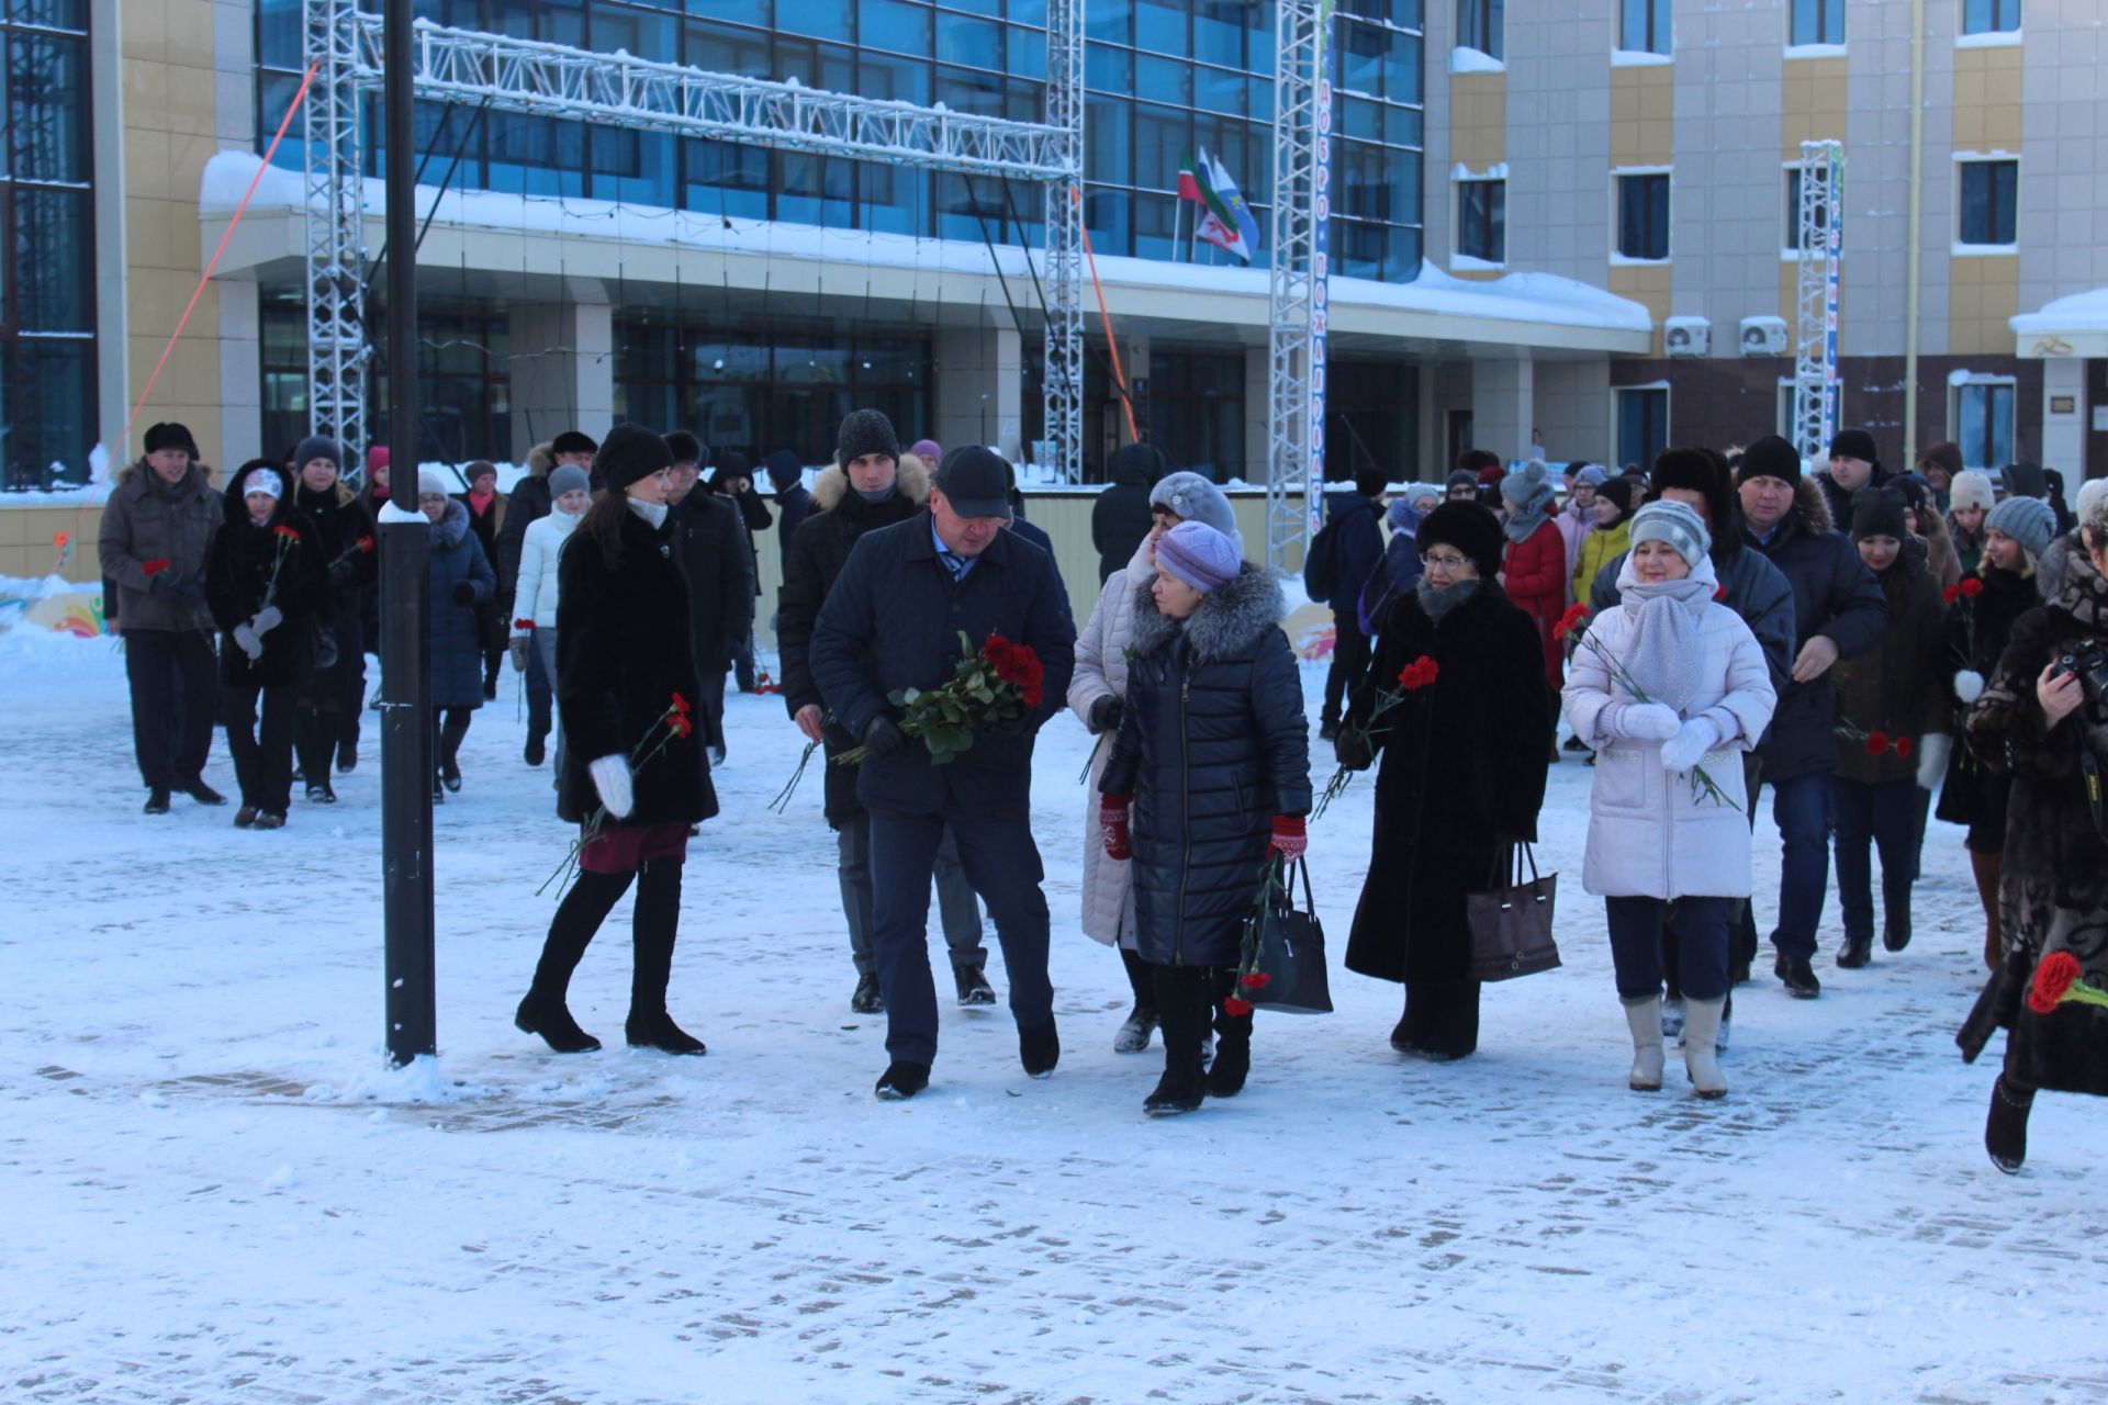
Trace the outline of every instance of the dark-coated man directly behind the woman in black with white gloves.
{"type": "Polygon", "coordinates": [[[666,436],[672,482],[666,491],[672,554],[687,573],[687,624],[702,680],[702,735],[710,760],[725,765],[725,670],[753,628],[753,552],[740,531],[738,508],[710,491],[696,491],[702,444],[687,430],[666,436]]]}

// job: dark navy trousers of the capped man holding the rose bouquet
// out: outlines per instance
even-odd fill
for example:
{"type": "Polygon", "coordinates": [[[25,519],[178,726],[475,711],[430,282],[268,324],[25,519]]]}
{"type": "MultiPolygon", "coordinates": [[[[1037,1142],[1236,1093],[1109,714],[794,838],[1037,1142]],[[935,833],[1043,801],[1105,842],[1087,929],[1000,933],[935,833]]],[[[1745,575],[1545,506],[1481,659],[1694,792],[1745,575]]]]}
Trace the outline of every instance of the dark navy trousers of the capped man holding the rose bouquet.
{"type": "Polygon", "coordinates": [[[989,904],[1010,975],[1010,1013],[1020,1030],[1054,1020],[1048,979],[1048,899],[1027,815],[871,813],[871,944],[885,996],[885,1051],[936,1062],[936,984],[930,977],[930,876],[944,826],[959,836],[965,880],[989,904]]]}

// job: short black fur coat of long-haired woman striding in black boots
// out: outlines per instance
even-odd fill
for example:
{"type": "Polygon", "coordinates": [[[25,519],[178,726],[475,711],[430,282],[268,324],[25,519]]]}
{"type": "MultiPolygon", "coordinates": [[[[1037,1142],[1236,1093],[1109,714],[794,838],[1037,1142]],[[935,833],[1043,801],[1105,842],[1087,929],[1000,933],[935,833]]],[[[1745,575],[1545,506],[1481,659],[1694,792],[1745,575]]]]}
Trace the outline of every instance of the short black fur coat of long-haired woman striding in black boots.
{"type": "Polygon", "coordinates": [[[694,708],[700,687],[672,516],[653,529],[624,510],[616,567],[580,525],[557,558],[557,710],[565,739],[557,813],[563,819],[582,822],[601,807],[601,792],[586,773],[601,756],[630,758],[635,794],[628,817],[605,824],[700,824],[717,813],[702,723],[691,723],[685,737],[666,739],[664,716],[677,693],[694,708]]]}

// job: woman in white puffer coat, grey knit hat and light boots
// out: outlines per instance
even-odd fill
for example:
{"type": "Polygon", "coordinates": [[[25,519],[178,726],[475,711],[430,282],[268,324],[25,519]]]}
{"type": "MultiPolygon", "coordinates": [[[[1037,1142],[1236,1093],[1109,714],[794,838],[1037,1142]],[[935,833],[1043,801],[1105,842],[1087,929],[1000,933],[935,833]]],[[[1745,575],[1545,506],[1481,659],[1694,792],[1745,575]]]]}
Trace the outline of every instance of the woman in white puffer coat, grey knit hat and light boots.
{"type": "Polygon", "coordinates": [[[1581,887],[1604,899],[1617,996],[1632,1028],[1634,1091],[1661,1089],[1661,910],[1674,902],[1684,990],[1684,1068],[1720,1097],[1729,899],[1750,895],[1750,798],[1741,752],[1779,697],[1764,651],[1714,594],[1712,539],[1676,501],[1642,508],[1619,605],[1589,621],[1564,708],[1596,752],[1581,887]],[[1703,773],[1703,775],[1701,775],[1703,773]]]}

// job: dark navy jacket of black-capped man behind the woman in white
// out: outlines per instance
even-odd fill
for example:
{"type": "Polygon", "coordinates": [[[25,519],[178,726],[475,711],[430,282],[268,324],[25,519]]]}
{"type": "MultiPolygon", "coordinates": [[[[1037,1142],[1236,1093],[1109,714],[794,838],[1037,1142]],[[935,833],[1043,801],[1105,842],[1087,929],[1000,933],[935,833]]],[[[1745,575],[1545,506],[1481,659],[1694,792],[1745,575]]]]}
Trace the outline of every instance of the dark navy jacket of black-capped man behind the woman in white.
{"type": "MultiPolygon", "coordinates": [[[[1823,506],[1823,480],[1802,478],[1794,506],[1779,520],[1769,543],[1752,527],[1743,527],[1748,550],[1762,554],[1794,588],[1794,638],[1804,649],[1817,634],[1828,634],[1840,659],[1857,659],[1880,642],[1889,624],[1889,602],[1880,581],[1859,560],[1859,548],[1830,527],[1823,506]]],[[[1779,708],[1771,714],[1758,756],[1767,781],[1828,773],[1836,765],[1836,718],[1830,706],[1830,676],[1811,682],[1788,682],[1779,689],[1779,708]]]]}

